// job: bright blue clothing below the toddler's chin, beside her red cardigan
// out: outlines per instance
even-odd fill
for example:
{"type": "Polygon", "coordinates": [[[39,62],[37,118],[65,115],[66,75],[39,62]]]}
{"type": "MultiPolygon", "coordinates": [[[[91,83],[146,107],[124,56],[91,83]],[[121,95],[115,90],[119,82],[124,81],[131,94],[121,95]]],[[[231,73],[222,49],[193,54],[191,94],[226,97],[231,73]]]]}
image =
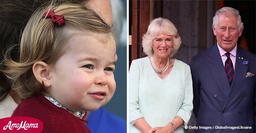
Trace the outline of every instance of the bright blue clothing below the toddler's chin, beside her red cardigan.
{"type": "Polygon", "coordinates": [[[104,108],[92,111],[87,120],[92,133],[126,133],[126,121],[104,108]]]}

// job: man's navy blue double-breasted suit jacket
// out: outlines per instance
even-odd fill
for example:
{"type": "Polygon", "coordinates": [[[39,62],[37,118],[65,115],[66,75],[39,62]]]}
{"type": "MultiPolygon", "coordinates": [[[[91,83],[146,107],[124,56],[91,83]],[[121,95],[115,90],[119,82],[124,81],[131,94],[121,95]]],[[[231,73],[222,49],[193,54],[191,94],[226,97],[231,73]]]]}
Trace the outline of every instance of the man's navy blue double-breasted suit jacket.
{"type": "Polygon", "coordinates": [[[217,44],[193,57],[189,66],[193,79],[196,132],[255,133],[255,62],[255,54],[237,46],[234,79],[230,86],[217,44]],[[243,65],[243,61],[249,63],[243,65]],[[246,77],[247,72],[255,75],[246,77]],[[199,126],[211,128],[199,129],[199,126]],[[227,129],[239,126],[240,129],[227,129]],[[241,126],[251,129],[241,129],[241,126]]]}

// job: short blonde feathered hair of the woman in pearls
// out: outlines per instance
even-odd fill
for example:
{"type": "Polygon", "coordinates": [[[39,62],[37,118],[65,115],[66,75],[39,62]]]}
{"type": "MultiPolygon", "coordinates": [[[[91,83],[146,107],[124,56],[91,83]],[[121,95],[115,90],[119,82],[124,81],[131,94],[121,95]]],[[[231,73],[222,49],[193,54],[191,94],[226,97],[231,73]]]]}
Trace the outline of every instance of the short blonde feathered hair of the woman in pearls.
{"type": "Polygon", "coordinates": [[[166,18],[155,18],[150,22],[148,31],[142,37],[143,51],[148,56],[153,56],[153,40],[156,38],[159,32],[173,36],[173,50],[171,50],[171,53],[169,54],[169,57],[173,57],[180,48],[181,39],[174,24],[166,18]]]}

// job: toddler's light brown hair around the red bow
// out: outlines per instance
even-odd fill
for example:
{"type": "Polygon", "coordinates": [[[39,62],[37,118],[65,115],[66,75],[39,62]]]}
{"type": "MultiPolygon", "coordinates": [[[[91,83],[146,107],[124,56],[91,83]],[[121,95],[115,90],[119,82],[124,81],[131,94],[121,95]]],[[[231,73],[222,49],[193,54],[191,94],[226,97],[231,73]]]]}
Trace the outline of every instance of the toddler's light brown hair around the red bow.
{"type": "Polygon", "coordinates": [[[69,29],[84,31],[98,36],[108,44],[116,45],[111,27],[93,10],[78,4],[54,5],[53,2],[47,7],[40,7],[33,13],[23,31],[19,61],[15,62],[10,58],[10,49],[3,62],[4,68],[1,68],[11,81],[12,89],[19,93],[21,99],[45,91],[44,84],[39,83],[33,75],[32,66],[37,61],[54,65],[65,53],[66,42],[72,36],[67,33],[69,29]],[[59,27],[58,23],[43,17],[51,9],[55,14],[64,16],[64,25],[59,27]]]}

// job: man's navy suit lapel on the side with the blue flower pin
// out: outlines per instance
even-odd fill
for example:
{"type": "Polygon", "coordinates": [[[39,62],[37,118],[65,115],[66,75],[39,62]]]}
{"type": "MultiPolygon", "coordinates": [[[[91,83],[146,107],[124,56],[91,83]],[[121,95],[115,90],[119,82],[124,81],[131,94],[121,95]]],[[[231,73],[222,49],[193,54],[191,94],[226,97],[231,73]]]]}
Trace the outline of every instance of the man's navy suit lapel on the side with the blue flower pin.
{"type": "Polygon", "coordinates": [[[230,87],[230,92],[228,94],[228,97],[226,99],[223,109],[226,108],[226,106],[230,103],[230,101],[235,97],[236,93],[238,92],[241,85],[243,84],[243,81],[245,80],[245,75],[247,74],[249,65],[243,65],[243,61],[249,61],[250,63],[250,59],[247,58],[246,55],[242,52],[241,48],[237,46],[234,79],[230,87]]]}

